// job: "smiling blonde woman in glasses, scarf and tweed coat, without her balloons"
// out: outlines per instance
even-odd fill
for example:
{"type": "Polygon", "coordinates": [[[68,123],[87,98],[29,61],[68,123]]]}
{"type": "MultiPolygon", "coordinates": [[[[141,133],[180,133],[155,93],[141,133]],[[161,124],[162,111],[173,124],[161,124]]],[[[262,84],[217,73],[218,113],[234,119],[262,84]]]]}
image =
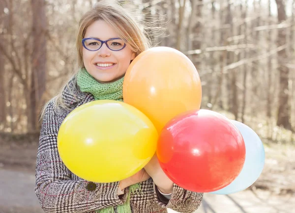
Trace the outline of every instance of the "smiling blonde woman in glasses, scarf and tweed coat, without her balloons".
{"type": "Polygon", "coordinates": [[[35,192],[44,211],[165,213],[171,208],[182,213],[194,212],[203,193],[175,185],[155,157],[137,174],[114,183],[83,180],[60,160],[57,135],[64,118],[93,100],[123,101],[124,74],[131,61],[150,48],[150,43],[131,14],[117,4],[100,1],[81,18],[76,47],[76,73],[43,112],[35,192]]]}

